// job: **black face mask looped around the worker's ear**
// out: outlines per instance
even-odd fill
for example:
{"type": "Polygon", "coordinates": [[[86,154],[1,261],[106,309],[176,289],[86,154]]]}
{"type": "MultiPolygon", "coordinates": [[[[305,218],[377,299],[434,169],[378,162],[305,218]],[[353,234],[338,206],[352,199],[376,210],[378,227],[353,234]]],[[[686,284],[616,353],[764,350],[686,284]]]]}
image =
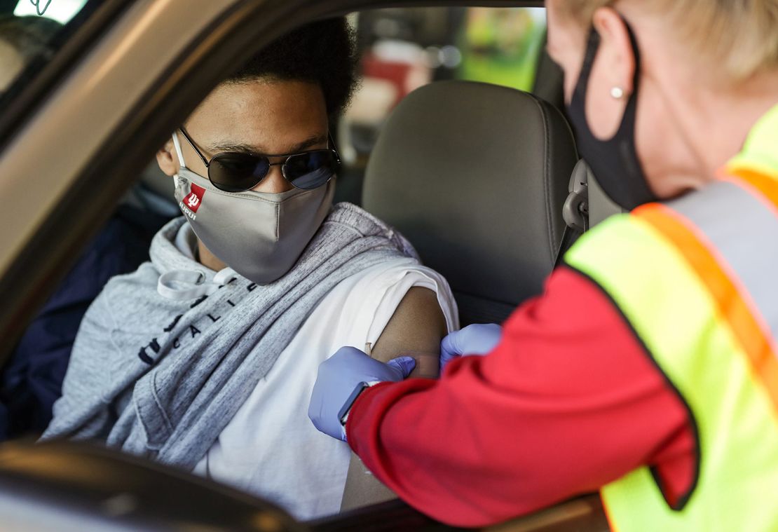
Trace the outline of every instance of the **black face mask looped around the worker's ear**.
{"type": "Polygon", "coordinates": [[[581,73],[573,92],[573,99],[567,107],[567,113],[570,121],[573,122],[573,128],[576,130],[578,151],[586,159],[605,194],[608,194],[622,208],[632,210],[638,205],[656,201],[657,197],[648,186],[635,148],[635,116],[637,93],[640,86],[640,51],[629,24],[627,24],[627,31],[635,54],[635,79],[633,93],[627,101],[619,131],[616,131],[613,138],[601,141],[594,137],[586,119],[589,76],[600,47],[600,34],[594,28],[589,34],[584,64],[581,66],[581,73]]]}

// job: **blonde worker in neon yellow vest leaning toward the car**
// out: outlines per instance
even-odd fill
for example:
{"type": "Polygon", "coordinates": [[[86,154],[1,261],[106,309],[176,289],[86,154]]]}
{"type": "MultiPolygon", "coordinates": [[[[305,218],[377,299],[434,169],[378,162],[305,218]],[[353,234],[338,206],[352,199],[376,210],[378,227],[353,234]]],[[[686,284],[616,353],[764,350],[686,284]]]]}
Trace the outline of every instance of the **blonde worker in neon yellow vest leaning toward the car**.
{"type": "Polygon", "coordinates": [[[448,523],[599,490],[622,532],[778,530],[778,0],[547,6],[580,152],[631,212],[502,334],[444,339],[440,380],[342,349],[309,415],[448,523]]]}

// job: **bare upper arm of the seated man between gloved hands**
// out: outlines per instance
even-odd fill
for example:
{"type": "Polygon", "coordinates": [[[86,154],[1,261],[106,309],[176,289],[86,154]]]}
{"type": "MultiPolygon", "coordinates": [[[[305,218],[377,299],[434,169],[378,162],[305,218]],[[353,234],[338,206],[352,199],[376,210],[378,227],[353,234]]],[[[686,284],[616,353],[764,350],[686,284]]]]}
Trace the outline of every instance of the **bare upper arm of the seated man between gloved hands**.
{"type": "Polygon", "coordinates": [[[436,377],[440,373],[440,341],[446,334],[446,318],[436,293],[414,286],[394,310],[370,355],[382,362],[410,355],[416,359],[411,376],[436,377]]]}

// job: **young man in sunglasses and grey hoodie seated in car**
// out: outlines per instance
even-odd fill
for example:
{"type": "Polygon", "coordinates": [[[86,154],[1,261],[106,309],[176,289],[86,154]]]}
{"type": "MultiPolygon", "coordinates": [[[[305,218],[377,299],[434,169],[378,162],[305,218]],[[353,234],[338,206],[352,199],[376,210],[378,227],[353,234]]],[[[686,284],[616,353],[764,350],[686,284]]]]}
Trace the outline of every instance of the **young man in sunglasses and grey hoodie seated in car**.
{"type": "MultiPolygon", "coordinates": [[[[402,236],[331,206],[328,122],[355,65],[344,19],[304,26],[173,133],[157,160],[184,217],[93,303],[44,439],[99,439],[300,518],[338,510],[350,453],[307,420],[318,364],[343,344],[437,353],[457,326],[445,281],[402,236]]],[[[395,378],[412,366],[393,362],[395,378]]]]}

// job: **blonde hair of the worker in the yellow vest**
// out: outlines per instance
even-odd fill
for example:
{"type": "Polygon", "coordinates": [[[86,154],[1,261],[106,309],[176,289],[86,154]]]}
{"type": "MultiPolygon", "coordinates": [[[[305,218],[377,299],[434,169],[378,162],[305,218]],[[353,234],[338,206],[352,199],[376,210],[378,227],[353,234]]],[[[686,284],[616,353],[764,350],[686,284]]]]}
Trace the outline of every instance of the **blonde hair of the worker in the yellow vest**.
{"type": "MultiPolygon", "coordinates": [[[[671,19],[697,54],[718,65],[728,79],[743,81],[778,69],[778,0],[622,0],[671,19]]],[[[584,26],[614,0],[557,0],[563,15],[584,26]]]]}

